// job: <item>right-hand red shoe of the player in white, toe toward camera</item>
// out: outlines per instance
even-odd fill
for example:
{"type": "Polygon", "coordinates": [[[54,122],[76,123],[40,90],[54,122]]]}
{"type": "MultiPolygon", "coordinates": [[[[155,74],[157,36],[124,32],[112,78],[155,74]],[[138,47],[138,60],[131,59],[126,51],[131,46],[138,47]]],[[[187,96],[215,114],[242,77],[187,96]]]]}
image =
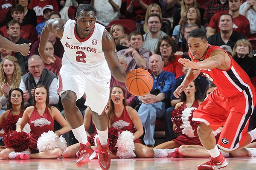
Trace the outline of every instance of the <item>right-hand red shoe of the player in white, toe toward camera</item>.
{"type": "Polygon", "coordinates": [[[96,145],[99,149],[99,156],[98,156],[99,166],[102,168],[102,170],[108,170],[111,162],[110,152],[108,149],[109,141],[107,145],[102,146],[99,142],[99,137],[98,137],[96,139],[96,142],[97,142],[96,145]]]}

